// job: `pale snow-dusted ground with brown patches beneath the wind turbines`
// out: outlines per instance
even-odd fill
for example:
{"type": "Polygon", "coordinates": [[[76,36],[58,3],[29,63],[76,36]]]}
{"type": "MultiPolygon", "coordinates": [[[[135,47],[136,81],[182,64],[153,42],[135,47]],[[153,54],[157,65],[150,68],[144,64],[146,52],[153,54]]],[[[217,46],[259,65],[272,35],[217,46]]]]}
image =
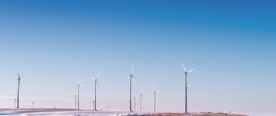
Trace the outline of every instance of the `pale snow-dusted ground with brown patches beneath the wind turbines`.
{"type": "MultiPolygon", "coordinates": [[[[148,116],[184,116],[183,113],[140,113],[140,112],[124,112],[124,111],[94,111],[94,110],[73,110],[73,109],[0,109],[0,115],[29,115],[29,116],[121,116],[121,115],[148,115],[148,116]]],[[[222,114],[206,114],[191,113],[185,116],[244,116],[244,115],[222,115],[222,114]]]]}

